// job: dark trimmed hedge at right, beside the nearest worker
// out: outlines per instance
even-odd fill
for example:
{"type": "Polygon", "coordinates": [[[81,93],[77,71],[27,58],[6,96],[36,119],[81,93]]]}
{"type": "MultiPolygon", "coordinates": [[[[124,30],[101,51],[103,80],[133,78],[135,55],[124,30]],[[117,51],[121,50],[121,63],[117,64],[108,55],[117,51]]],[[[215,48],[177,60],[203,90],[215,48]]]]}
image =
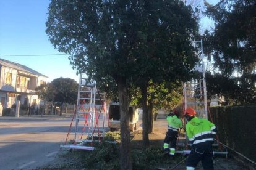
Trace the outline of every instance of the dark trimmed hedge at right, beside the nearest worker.
{"type": "Polygon", "coordinates": [[[220,142],[252,161],[256,161],[255,110],[256,106],[210,108],[220,142]]]}

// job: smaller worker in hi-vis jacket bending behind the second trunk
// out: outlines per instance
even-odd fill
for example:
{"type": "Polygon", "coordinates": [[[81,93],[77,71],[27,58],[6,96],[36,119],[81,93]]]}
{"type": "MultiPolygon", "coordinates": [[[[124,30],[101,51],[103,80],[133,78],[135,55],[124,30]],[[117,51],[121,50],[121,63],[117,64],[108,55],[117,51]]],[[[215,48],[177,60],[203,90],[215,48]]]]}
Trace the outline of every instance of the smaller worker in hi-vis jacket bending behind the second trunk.
{"type": "Polygon", "coordinates": [[[164,155],[169,155],[171,159],[174,159],[179,128],[183,127],[182,121],[178,116],[179,112],[173,110],[166,118],[168,121],[168,132],[166,132],[163,148],[164,155]]]}

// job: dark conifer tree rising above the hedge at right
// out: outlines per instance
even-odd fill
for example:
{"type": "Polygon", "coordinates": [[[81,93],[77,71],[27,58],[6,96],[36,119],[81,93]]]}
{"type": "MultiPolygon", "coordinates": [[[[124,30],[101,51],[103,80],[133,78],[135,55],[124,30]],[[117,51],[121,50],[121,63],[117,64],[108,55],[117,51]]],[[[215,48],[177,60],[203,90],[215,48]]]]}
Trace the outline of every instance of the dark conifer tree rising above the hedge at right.
{"type": "MultiPolygon", "coordinates": [[[[218,94],[236,103],[255,103],[256,1],[222,0],[215,6],[205,4],[205,14],[215,21],[215,28],[204,34],[205,54],[221,72],[221,79],[226,79],[234,87],[229,88],[228,93],[220,91],[218,94]]],[[[220,75],[208,76],[220,81],[220,75]]],[[[218,91],[211,87],[207,89],[218,91]]]]}

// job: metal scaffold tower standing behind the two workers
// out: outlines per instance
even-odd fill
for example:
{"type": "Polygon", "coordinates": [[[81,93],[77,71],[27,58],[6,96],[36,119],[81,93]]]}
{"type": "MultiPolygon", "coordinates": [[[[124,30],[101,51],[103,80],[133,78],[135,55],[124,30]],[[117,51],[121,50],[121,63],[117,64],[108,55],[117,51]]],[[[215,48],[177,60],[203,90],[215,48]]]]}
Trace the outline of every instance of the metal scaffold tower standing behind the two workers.
{"type": "MultiPolygon", "coordinates": [[[[192,44],[197,48],[197,52],[195,54],[198,56],[199,62],[194,68],[194,71],[197,71],[198,75],[191,79],[191,81],[183,84],[184,89],[184,107],[183,111],[186,108],[193,108],[198,118],[208,119],[208,107],[207,107],[207,89],[206,89],[206,81],[205,81],[205,63],[203,61],[203,41],[192,41],[192,44]]],[[[184,120],[186,124],[186,120],[184,120]]],[[[184,125],[185,125],[184,124],[184,125]]],[[[188,144],[188,139],[186,134],[184,134],[182,138],[184,142],[179,141],[178,145],[185,147],[185,150],[177,150],[177,153],[189,154],[190,145],[188,144]]],[[[228,152],[226,148],[222,148],[219,145],[218,141],[215,141],[213,146],[218,147],[213,151],[214,154],[224,154],[227,156],[228,152]]]]}

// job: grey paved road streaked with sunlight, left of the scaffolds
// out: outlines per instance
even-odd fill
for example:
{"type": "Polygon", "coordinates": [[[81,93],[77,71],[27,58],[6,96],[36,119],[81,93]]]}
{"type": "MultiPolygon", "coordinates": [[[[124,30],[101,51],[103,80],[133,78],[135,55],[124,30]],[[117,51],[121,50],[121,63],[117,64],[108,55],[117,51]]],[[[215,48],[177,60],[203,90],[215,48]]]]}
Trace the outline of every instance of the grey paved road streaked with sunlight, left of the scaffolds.
{"type": "Polygon", "coordinates": [[[0,117],[0,169],[35,169],[60,151],[70,118],[0,117]]]}

